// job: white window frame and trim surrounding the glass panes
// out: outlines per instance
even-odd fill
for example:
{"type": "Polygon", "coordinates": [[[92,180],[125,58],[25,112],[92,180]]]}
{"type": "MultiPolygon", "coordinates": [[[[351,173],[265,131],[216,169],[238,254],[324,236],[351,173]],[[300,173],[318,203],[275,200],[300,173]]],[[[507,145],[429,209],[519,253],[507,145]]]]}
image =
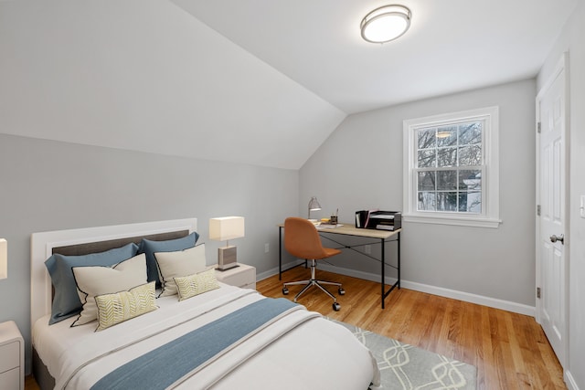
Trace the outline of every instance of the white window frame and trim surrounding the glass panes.
{"type": "Polygon", "coordinates": [[[403,121],[404,173],[403,173],[403,214],[405,222],[457,225],[464,227],[499,227],[499,109],[459,111],[424,118],[403,121]],[[461,213],[417,210],[417,163],[416,131],[421,128],[444,126],[466,121],[484,121],[483,154],[484,174],[482,176],[482,213],[461,213]]]}

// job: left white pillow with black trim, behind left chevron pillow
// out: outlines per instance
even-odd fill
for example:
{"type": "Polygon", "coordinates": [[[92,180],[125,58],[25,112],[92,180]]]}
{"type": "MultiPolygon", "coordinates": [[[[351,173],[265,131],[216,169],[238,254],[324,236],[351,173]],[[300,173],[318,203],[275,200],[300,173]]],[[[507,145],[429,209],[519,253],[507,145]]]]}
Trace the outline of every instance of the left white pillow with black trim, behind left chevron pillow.
{"type": "Polygon", "coordinates": [[[83,325],[98,318],[97,295],[130,290],[146,283],[144,253],[112,267],[73,267],[72,270],[83,310],[71,326],[83,325]]]}

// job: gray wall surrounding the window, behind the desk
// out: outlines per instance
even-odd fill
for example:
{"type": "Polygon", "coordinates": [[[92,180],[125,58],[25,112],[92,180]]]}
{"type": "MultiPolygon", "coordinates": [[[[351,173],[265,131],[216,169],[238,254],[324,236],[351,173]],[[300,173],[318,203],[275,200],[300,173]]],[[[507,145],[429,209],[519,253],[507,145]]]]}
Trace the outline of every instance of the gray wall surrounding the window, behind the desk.
{"type": "MultiPolygon", "coordinates": [[[[402,278],[420,285],[535,306],[534,79],[355,114],[300,174],[300,212],[316,195],[341,221],[358,209],[402,209],[402,121],[489,106],[500,108],[500,217],[497,228],[403,224],[402,278]],[[305,202],[306,200],[306,202],[305,202]]],[[[348,268],[378,273],[351,255],[348,268]],[[353,266],[351,265],[353,264],[353,266]]],[[[411,284],[410,286],[417,286],[411,284]]]]}

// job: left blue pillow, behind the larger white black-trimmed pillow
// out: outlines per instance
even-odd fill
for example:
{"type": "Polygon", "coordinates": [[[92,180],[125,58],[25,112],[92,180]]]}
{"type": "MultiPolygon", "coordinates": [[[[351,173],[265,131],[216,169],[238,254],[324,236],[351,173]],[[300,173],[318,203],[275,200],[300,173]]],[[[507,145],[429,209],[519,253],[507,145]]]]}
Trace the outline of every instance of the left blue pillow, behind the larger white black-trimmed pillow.
{"type": "Polygon", "coordinates": [[[55,288],[51,318],[48,320],[48,324],[51,325],[79,314],[82,309],[72,267],[112,266],[128,258],[133,258],[137,251],[138,246],[130,243],[122,248],[114,248],[101,253],[91,253],[84,256],[55,254],[48,258],[45,261],[45,266],[55,288]]]}

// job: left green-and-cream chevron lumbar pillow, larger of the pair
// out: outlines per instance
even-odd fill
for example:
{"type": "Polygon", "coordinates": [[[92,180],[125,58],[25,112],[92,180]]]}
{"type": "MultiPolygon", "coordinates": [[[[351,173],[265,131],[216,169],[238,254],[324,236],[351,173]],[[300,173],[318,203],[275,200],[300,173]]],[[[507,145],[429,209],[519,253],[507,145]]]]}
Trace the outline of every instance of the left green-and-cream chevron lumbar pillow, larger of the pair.
{"type": "Polygon", "coordinates": [[[115,324],[158,309],[154,304],[154,285],[155,282],[151,281],[127,291],[96,296],[100,323],[96,331],[103,331],[115,324]]]}

